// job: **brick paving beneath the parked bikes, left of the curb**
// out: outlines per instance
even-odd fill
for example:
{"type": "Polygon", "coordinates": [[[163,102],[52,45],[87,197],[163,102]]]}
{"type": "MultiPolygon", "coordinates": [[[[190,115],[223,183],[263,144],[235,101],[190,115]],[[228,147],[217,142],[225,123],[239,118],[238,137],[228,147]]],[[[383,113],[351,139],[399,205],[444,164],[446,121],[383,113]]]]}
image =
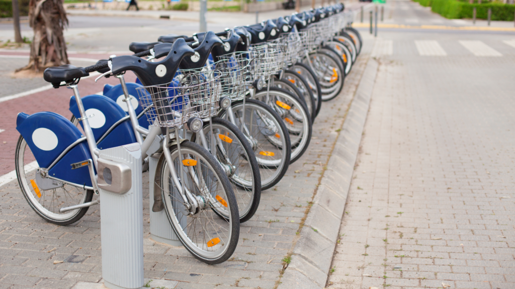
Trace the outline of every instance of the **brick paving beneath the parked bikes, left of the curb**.
{"type": "MultiPolygon", "coordinates": [[[[341,95],[323,103],[310,149],[290,165],[276,187],[262,193],[255,216],[242,224],[238,247],[229,261],[206,265],[182,247],[148,239],[148,173],[144,173],[145,278],[177,280],[177,288],[273,288],[283,269],[282,259],[298,238],[367,59],[367,53],[360,56],[341,95]]],[[[98,206],[78,223],[60,227],[45,223],[30,209],[16,181],[0,188],[0,289],[71,288],[79,281],[100,282],[100,254],[98,206]]]]}

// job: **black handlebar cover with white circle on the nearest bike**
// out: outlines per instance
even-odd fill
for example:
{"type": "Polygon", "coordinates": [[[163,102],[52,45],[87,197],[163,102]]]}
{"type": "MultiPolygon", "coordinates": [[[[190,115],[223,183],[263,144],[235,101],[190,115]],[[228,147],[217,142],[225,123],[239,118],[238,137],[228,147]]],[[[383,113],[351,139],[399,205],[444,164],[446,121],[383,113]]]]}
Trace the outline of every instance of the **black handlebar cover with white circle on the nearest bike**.
{"type": "Polygon", "coordinates": [[[118,56],[111,59],[113,74],[131,70],[144,86],[160,85],[173,80],[181,60],[195,55],[193,48],[183,39],[177,39],[169,50],[168,56],[158,62],[150,62],[132,55],[118,56]]]}

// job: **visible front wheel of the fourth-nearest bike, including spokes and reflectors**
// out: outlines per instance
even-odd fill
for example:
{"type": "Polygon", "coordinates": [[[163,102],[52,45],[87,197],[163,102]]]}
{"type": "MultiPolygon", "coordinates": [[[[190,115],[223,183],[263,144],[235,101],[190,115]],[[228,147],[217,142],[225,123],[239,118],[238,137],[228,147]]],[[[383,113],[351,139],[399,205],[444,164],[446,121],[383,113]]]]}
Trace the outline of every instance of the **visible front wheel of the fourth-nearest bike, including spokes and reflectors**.
{"type": "Polygon", "coordinates": [[[291,141],[290,163],[293,163],[310,145],[313,128],[307,107],[297,97],[277,87],[270,87],[269,92],[257,92],[254,97],[272,107],[286,125],[291,141]]]}

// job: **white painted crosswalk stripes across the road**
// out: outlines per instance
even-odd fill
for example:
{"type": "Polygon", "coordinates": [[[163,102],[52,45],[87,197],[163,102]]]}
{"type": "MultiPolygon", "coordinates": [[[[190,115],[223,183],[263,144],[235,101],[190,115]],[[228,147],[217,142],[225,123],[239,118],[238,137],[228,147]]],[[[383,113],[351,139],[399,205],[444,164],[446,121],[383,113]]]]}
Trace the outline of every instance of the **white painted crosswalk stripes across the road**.
{"type": "MultiPolygon", "coordinates": [[[[414,40],[414,46],[419,56],[448,56],[449,53],[445,51],[439,41],[437,40],[414,40]]],[[[463,48],[464,52],[468,51],[476,57],[502,57],[503,54],[496,49],[492,48],[488,44],[479,40],[458,40],[459,46],[463,48]]],[[[501,45],[507,45],[508,47],[515,48],[515,39],[503,40],[500,42],[501,45]]],[[[402,43],[406,45],[406,43],[402,43]]],[[[390,56],[394,53],[394,41],[388,39],[376,39],[374,47],[372,49],[372,57],[390,56]]],[[[503,50],[503,48],[499,48],[503,50]]],[[[514,51],[515,52],[515,51],[514,51]]],[[[397,52],[400,53],[400,52],[397,52]]],[[[465,52],[467,53],[467,52],[465,52]]],[[[508,52],[509,53],[509,52],[508,52]]],[[[451,53],[452,54],[452,53],[451,53]]],[[[455,54],[455,53],[454,53],[455,54]]],[[[512,55],[513,53],[509,53],[512,55]]]]}

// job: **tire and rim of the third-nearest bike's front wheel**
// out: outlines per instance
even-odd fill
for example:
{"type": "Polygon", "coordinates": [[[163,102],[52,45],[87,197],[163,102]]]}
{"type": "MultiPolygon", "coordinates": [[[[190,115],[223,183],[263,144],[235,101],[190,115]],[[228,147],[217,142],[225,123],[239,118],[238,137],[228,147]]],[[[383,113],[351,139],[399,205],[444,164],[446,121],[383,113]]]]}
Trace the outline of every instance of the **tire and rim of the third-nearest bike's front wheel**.
{"type": "MultiPolygon", "coordinates": [[[[261,110],[263,113],[268,114],[270,118],[274,119],[274,123],[277,125],[277,129],[280,131],[280,135],[284,136],[284,145],[280,149],[283,151],[283,154],[281,156],[281,160],[278,165],[269,165],[269,164],[263,164],[262,161],[260,161],[261,158],[256,158],[258,161],[258,165],[260,168],[260,177],[261,177],[261,191],[267,190],[280,182],[286,171],[288,170],[289,164],[290,164],[290,157],[291,157],[291,142],[289,139],[288,130],[286,129],[286,125],[282,121],[281,117],[275,112],[270,106],[266,105],[265,103],[255,100],[255,99],[246,99],[245,100],[246,110],[252,109],[252,107],[255,107],[255,109],[261,110]],[[268,172],[270,170],[274,170],[273,173],[270,175],[268,172]]],[[[231,104],[231,107],[236,113],[239,110],[243,110],[243,100],[235,101],[231,104]]],[[[227,111],[220,110],[218,113],[218,116],[220,118],[224,118],[224,116],[227,116],[227,111]]],[[[251,136],[254,138],[254,136],[251,136]]],[[[254,142],[253,142],[254,143],[254,142]]],[[[267,143],[269,141],[267,140],[267,143]]],[[[252,145],[251,145],[252,146],[252,145]]],[[[252,146],[252,150],[255,154],[259,154],[258,147],[256,145],[252,146]]],[[[260,155],[263,157],[262,155],[260,155]]]]}

